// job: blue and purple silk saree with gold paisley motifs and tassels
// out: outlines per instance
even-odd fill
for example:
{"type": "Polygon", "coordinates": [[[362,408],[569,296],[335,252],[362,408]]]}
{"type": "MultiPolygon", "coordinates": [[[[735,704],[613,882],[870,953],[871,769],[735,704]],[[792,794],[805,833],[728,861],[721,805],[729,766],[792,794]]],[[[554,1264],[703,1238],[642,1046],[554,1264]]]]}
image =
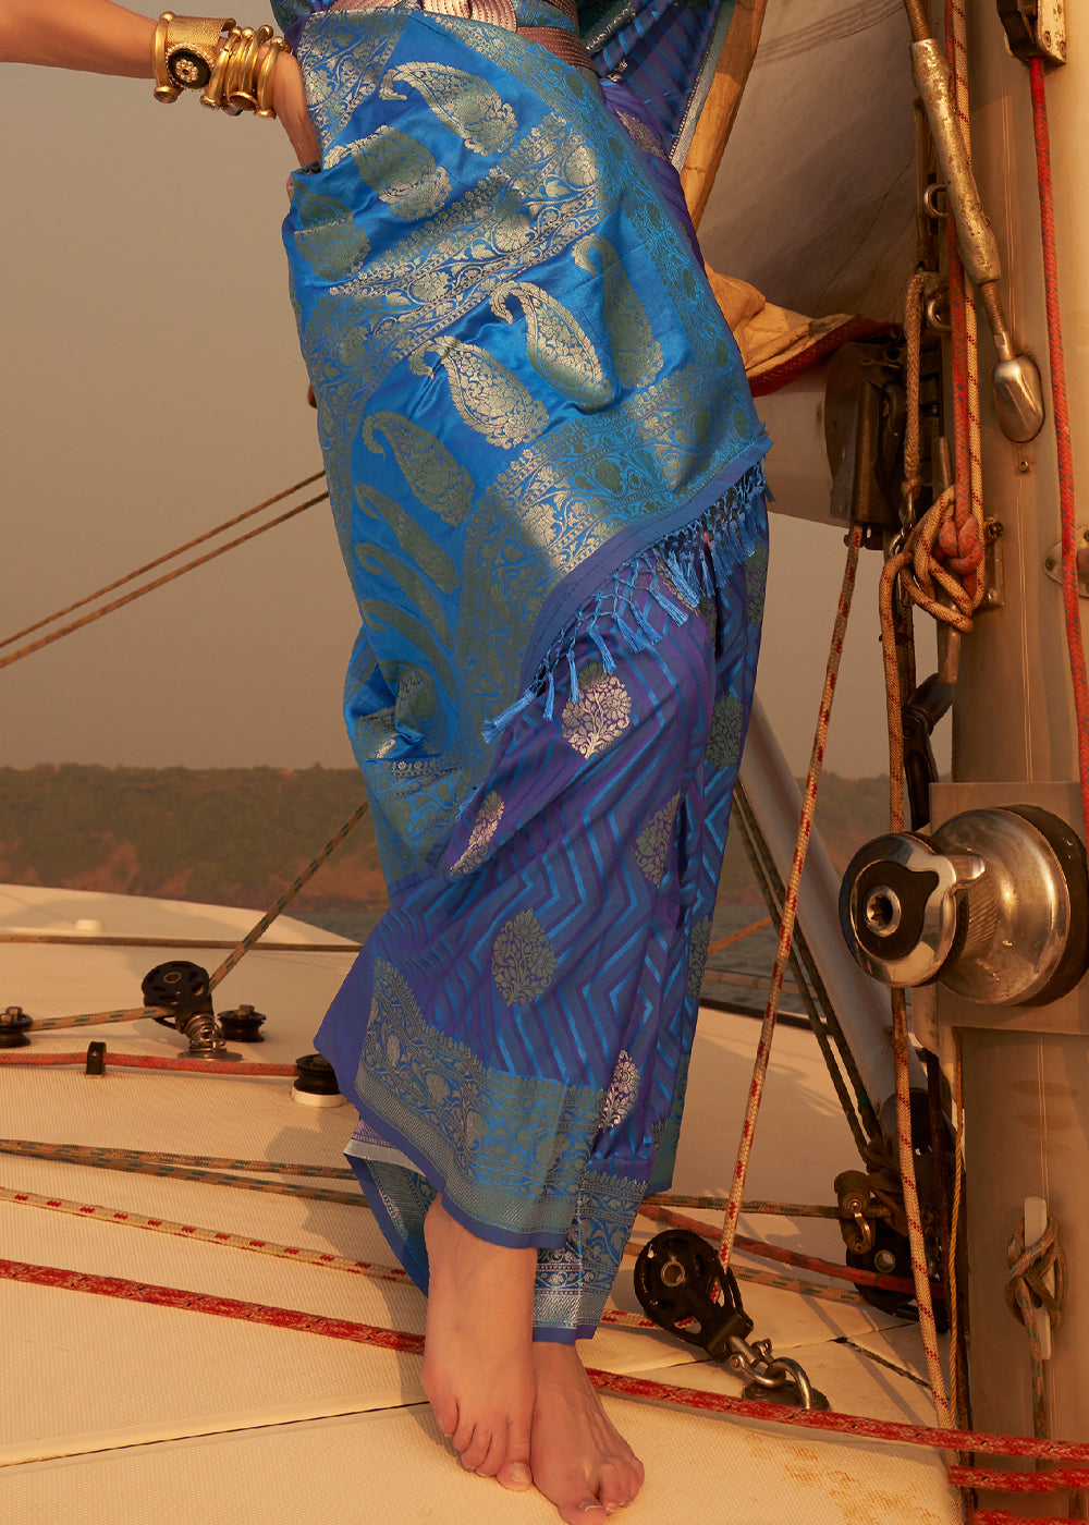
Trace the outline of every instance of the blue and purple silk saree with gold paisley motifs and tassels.
{"type": "Polygon", "coordinates": [[[296,52],[322,159],[285,246],[390,897],[317,1042],[418,1284],[441,1191],[537,1246],[537,1337],[573,1339],[671,1174],[769,441],[616,85],[410,0],[316,5],[296,52]]]}

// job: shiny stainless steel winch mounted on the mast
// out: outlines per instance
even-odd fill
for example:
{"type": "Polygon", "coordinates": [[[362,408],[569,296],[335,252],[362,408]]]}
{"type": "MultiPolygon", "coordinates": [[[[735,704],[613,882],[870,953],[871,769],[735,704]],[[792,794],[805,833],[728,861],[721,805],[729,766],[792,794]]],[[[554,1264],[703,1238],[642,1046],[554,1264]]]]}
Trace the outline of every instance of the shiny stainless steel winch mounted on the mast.
{"type": "Polygon", "coordinates": [[[1086,851],[1036,805],[969,810],[860,848],[839,918],[885,985],[936,981],[981,1005],[1046,1005],[1089,968],[1086,851]]]}

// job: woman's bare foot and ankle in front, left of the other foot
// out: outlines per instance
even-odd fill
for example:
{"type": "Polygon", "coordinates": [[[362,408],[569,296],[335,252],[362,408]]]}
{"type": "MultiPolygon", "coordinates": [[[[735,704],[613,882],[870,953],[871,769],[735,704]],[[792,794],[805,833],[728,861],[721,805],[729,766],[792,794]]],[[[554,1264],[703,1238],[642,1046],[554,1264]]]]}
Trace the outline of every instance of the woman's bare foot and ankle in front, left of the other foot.
{"type": "Polygon", "coordinates": [[[532,1482],[537,1250],[477,1238],[450,1217],[441,1197],[427,1211],[424,1238],[427,1401],[467,1472],[523,1491],[532,1482]]]}

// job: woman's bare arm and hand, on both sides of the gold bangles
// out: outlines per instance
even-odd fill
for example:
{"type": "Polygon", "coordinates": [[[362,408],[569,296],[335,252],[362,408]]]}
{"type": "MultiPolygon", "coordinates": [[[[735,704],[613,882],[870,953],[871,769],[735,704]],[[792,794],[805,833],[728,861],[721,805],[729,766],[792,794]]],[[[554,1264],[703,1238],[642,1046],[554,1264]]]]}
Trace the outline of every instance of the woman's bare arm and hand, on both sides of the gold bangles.
{"type": "MultiPolygon", "coordinates": [[[[113,0],[0,0],[0,63],[151,79],[154,37],[153,17],[113,0]]],[[[307,113],[302,73],[290,53],[276,59],[273,101],[299,163],[311,163],[320,146],[307,113]]]]}

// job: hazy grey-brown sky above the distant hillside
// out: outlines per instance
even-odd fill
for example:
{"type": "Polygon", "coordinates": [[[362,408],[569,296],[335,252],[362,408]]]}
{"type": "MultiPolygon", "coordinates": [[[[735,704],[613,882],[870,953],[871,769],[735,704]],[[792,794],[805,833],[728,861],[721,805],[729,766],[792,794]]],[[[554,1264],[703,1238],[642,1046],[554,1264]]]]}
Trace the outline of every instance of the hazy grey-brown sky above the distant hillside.
{"type": "MultiPolygon", "coordinates": [[[[279,127],[162,107],[142,81],[0,78],[5,140],[26,145],[8,154],[0,241],[3,636],[320,458],[279,242],[279,127]]],[[[842,532],[773,525],[760,692],[798,770],[842,558],[842,532]]],[[[828,747],[846,775],[886,766],[877,572],[871,554],[828,747]]],[[[2,671],[0,766],[349,766],[354,627],[319,506],[2,671]]]]}

